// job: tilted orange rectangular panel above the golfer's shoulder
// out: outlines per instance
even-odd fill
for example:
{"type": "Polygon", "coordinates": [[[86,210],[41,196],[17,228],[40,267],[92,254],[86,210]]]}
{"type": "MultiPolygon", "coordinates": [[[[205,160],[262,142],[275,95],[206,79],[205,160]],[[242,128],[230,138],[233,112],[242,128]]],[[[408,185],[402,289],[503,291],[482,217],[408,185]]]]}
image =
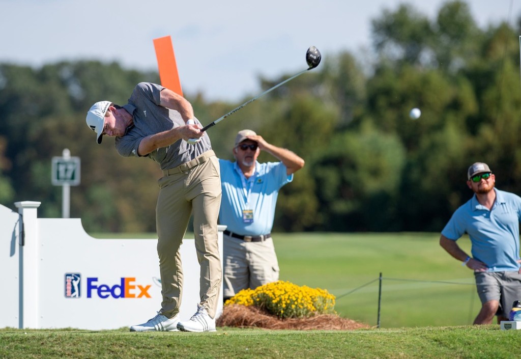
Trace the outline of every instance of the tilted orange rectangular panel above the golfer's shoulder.
{"type": "Polygon", "coordinates": [[[154,39],[154,48],[156,49],[157,67],[159,69],[161,85],[182,96],[183,90],[181,89],[176,56],[173,54],[170,35],[154,39]]]}

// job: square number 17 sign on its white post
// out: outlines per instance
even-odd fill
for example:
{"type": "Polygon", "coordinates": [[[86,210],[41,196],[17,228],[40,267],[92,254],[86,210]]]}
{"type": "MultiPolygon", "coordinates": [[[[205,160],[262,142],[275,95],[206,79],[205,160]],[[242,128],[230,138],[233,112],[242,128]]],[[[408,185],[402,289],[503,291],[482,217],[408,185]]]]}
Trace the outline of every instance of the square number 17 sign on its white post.
{"type": "Polygon", "coordinates": [[[61,186],[61,217],[70,217],[70,186],[78,186],[81,176],[81,161],[79,157],[71,157],[68,148],[63,150],[63,157],[53,157],[51,182],[54,186],[61,186]]]}

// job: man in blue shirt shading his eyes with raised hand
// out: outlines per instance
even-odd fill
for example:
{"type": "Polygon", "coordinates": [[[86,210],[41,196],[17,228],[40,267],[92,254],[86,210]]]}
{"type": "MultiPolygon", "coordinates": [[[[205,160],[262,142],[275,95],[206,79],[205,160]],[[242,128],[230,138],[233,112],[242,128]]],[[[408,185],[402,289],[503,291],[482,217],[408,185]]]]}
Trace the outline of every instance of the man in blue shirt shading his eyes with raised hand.
{"type": "Polygon", "coordinates": [[[271,238],[277,196],[304,166],[304,160],[292,151],[271,145],[248,129],[235,138],[233,156],[235,162],[219,160],[219,223],[227,225],[223,236],[225,301],[242,289],[279,279],[271,238]],[[280,162],[257,162],[261,150],[280,162]]]}

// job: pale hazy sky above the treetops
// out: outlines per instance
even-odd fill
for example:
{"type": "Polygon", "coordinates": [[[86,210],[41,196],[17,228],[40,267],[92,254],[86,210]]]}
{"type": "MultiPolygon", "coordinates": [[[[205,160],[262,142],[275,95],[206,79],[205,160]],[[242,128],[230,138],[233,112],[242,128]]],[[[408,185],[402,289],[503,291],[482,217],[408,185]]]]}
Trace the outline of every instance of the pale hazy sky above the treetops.
{"type": "MultiPolygon", "coordinates": [[[[0,62],[97,59],[157,70],[153,39],[170,35],[185,93],[239,101],[259,93],[259,76],[305,69],[311,45],[322,58],[369,49],[371,19],[400,3],[433,18],[445,1],[0,0],[0,62]]],[[[521,0],[467,3],[482,28],[521,16],[521,0]]]]}

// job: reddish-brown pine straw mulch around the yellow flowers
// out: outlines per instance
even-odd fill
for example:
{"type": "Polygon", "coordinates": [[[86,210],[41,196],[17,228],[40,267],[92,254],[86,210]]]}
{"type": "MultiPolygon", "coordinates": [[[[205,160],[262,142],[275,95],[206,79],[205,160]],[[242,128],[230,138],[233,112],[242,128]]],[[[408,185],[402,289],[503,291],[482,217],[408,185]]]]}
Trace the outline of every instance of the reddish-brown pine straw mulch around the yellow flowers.
{"type": "Polygon", "coordinates": [[[225,305],[217,319],[218,327],[292,329],[292,330],[355,330],[371,328],[369,325],[333,314],[320,314],[309,318],[279,319],[254,306],[225,305]]]}

